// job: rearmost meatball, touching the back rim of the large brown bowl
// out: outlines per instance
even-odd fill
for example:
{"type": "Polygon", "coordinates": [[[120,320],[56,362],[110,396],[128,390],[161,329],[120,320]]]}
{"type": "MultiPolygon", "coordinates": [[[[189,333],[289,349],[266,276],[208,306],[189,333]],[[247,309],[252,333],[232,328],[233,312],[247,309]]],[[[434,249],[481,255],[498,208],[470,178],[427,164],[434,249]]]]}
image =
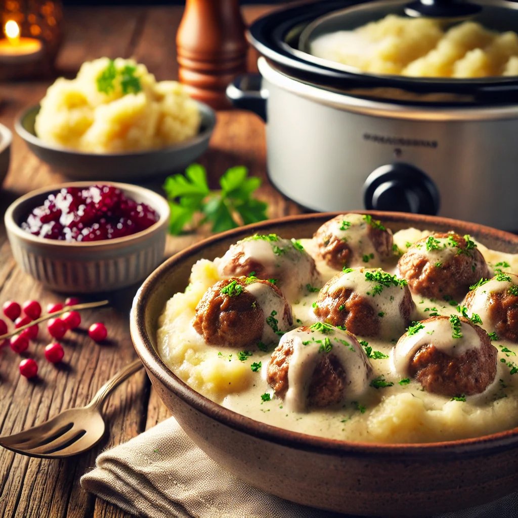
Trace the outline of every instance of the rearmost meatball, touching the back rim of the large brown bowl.
{"type": "Polygon", "coordinates": [[[313,236],[328,266],[382,266],[392,250],[392,232],[370,214],[341,214],[324,223],[313,236]]]}

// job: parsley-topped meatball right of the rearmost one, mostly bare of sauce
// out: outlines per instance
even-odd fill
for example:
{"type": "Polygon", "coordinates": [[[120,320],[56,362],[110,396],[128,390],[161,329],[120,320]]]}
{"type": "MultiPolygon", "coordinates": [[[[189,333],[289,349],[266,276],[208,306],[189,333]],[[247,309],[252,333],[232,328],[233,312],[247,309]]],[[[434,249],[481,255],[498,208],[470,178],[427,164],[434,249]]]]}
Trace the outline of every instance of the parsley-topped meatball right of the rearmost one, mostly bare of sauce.
{"type": "Polygon", "coordinates": [[[433,234],[415,242],[398,262],[399,275],[423,297],[463,298],[490,270],[469,236],[433,234]]]}

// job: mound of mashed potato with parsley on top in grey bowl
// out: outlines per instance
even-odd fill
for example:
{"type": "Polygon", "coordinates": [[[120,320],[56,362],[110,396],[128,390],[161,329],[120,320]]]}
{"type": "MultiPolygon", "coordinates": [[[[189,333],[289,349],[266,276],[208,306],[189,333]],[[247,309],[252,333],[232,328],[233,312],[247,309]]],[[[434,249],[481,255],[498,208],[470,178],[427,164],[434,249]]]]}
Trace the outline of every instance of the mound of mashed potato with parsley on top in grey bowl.
{"type": "Polygon", "coordinates": [[[76,79],[57,79],[41,100],[36,135],[93,153],[163,148],[198,133],[196,103],[176,81],[156,82],[145,65],[102,57],[76,79]]]}

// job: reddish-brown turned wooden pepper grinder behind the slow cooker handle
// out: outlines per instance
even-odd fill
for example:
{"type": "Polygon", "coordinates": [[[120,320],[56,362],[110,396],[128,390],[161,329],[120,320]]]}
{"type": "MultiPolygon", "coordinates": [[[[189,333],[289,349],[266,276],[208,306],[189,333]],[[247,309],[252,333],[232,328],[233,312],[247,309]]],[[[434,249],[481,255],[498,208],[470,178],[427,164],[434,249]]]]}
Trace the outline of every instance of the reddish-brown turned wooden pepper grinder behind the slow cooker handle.
{"type": "Polygon", "coordinates": [[[225,89],[245,71],[248,50],[238,0],[186,0],[176,45],[178,75],[189,94],[229,108],[225,89]]]}

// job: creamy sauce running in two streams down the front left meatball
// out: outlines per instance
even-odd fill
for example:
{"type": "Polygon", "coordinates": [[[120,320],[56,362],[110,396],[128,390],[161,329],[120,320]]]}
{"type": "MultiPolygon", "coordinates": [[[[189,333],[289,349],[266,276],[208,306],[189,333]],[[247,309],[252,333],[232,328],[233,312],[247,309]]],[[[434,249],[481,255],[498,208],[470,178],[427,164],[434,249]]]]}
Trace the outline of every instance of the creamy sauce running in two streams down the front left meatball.
{"type": "Polygon", "coordinates": [[[369,385],[371,366],[356,337],[346,331],[334,329],[322,333],[318,330],[294,329],[286,333],[280,343],[292,342],[293,355],[288,368],[288,390],[284,402],[286,408],[302,412],[307,408],[307,395],[316,364],[323,354],[334,354],[346,372],[344,399],[360,397],[369,385]],[[322,351],[325,339],[330,351],[322,351]]]}

